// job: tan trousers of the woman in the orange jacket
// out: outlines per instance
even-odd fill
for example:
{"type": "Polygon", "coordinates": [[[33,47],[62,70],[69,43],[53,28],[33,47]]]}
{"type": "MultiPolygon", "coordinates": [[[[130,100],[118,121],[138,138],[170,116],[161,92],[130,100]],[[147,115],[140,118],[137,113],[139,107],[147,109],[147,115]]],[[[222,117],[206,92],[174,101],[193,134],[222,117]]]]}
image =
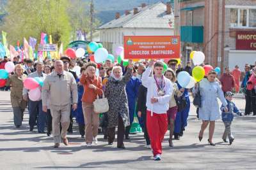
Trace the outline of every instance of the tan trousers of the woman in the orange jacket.
{"type": "Polygon", "coordinates": [[[92,143],[93,137],[98,135],[99,114],[93,111],[92,103],[82,103],[85,122],[85,142],[92,143]]]}

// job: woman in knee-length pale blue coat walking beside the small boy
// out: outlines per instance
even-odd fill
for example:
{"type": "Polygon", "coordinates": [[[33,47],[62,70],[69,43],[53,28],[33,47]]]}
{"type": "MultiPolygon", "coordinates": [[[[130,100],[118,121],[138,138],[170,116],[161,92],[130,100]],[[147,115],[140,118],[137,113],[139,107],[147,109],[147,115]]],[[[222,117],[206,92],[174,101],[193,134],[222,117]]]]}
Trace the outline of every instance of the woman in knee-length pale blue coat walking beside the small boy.
{"type": "Polygon", "coordinates": [[[199,108],[199,119],[202,120],[202,125],[198,138],[199,141],[202,140],[204,131],[210,122],[208,142],[212,146],[215,146],[212,142],[215,121],[220,118],[220,107],[217,98],[219,98],[223,106],[225,106],[225,111],[228,110],[227,101],[221,90],[220,83],[216,81],[216,76],[217,73],[215,71],[209,71],[207,78],[204,78],[199,83],[200,94],[202,96],[202,106],[199,108]]]}

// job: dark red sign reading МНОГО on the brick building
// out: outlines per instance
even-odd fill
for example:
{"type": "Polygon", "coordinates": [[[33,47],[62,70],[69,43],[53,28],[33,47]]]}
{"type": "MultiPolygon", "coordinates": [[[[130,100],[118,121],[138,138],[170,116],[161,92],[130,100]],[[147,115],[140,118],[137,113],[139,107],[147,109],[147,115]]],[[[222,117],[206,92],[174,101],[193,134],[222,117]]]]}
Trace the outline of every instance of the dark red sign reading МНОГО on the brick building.
{"type": "Polygon", "coordinates": [[[237,31],[236,50],[256,50],[256,31],[237,31]]]}

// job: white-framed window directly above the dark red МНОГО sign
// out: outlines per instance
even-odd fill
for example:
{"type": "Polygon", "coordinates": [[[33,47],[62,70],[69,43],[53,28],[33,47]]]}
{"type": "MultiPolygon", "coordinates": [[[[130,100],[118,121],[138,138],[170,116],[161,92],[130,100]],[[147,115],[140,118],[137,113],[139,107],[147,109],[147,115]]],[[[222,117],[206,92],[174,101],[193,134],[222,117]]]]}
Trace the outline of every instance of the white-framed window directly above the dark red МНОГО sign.
{"type": "Polygon", "coordinates": [[[256,9],[231,8],[231,27],[256,27],[256,9]]]}

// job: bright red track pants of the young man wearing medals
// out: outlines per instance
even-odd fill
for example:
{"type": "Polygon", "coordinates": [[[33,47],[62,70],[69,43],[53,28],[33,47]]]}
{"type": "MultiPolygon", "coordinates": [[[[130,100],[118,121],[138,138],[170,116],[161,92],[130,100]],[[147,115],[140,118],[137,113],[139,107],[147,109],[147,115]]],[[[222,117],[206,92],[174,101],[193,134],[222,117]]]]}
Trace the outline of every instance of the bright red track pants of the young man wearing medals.
{"type": "Polygon", "coordinates": [[[147,130],[154,156],[162,153],[162,141],[168,128],[166,114],[153,113],[147,110],[147,130]]]}

